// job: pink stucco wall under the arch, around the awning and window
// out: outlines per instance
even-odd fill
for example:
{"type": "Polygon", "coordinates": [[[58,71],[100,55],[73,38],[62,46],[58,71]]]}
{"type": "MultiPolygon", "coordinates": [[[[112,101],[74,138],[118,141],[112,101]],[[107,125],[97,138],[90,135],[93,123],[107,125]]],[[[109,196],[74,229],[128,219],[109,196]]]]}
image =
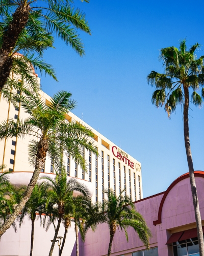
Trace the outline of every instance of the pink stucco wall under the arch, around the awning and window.
{"type": "MultiPolygon", "coordinates": [[[[196,187],[201,220],[204,220],[204,178],[196,177],[196,187]]],[[[162,223],[157,225],[159,256],[171,256],[172,251],[166,242],[171,235],[180,229],[195,226],[195,215],[191,195],[190,180],[186,178],[175,184],[169,191],[162,208],[162,223]]]]}

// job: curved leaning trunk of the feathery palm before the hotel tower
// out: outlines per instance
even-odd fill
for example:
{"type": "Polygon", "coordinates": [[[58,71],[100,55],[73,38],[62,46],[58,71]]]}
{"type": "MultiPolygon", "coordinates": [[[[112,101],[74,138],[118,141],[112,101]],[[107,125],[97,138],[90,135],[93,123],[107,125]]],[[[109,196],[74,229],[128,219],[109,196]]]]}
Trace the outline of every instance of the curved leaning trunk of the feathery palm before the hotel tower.
{"type": "Polygon", "coordinates": [[[35,170],[34,170],[33,176],[30,180],[30,183],[29,183],[29,185],[27,187],[27,190],[25,191],[21,201],[15,207],[15,209],[13,211],[13,214],[11,214],[9,216],[9,218],[5,221],[5,223],[0,227],[0,238],[6,232],[6,230],[8,228],[10,228],[11,224],[15,221],[15,219],[19,215],[19,212],[21,212],[25,203],[29,200],[29,198],[32,194],[33,188],[34,188],[34,186],[35,186],[35,184],[36,184],[36,182],[39,178],[40,170],[44,166],[47,150],[48,150],[47,141],[46,140],[39,141],[38,152],[36,154],[35,170]]]}

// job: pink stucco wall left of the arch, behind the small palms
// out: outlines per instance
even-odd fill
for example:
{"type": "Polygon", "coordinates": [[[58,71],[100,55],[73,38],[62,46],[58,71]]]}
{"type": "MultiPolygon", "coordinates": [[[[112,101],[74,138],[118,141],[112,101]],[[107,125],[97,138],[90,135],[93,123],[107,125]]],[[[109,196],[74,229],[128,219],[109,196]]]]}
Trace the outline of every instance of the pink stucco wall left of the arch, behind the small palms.
{"type": "MultiPolygon", "coordinates": [[[[144,216],[147,225],[152,232],[150,239],[151,247],[157,246],[157,233],[156,226],[153,225],[152,220],[157,219],[158,209],[161,202],[162,195],[155,196],[146,200],[138,201],[135,203],[136,209],[144,216]]],[[[128,230],[129,243],[126,242],[124,232],[117,230],[113,239],[112,255],[122,255],[124,253],[133,252],[145,248],[139,240],[138,235],[134,229],[128,230]]],[[[89,256],[107,255],[109,245],[109,229],[107,224],[98,226],[95,232],[88,231],[86,241],[84,243],[84,254],[89,256]]],[[[72,254],[73,256],[75,254],[72,254]]],[[[82,255],[82,254],[81,254],[82,255]]]]}

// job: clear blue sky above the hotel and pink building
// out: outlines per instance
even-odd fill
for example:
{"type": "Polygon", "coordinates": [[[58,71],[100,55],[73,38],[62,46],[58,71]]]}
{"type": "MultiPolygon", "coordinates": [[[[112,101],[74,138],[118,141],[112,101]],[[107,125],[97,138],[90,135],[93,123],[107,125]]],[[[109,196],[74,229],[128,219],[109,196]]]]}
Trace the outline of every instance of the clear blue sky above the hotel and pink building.
{"type": "MultiPolygon", "coordinates": [[[[159,49],[204,45],[203,1],[75,0],[86,13],[92,36],[80,32],[86,56],[79,57],[62,41],[44,58],[59,82],[42,76],[42,90],[72,92],[74,114],[142,163],[143,196],[167,189],[188,172],[181,108],[171,120],[151,104],[146,83],[151,70],[163,71],[159,49]]],[[[201,54],[203,54],[202,47],[201,54]]],[[[39,75],[40,76],[40,75],[39,75]]],[[[195,170],[204,170],[203,109],[192,107],[190,140],[195,170]]]]}

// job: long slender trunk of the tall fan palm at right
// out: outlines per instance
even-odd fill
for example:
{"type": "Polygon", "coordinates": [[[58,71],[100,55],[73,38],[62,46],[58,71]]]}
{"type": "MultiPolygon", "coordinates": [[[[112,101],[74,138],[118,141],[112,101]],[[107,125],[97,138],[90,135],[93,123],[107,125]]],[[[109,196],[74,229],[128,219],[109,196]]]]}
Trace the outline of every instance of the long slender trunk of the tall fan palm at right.
{"type": "Polygon", "coordinates": [[[194,168],[193,168],[193,159],[191,155],[190,139],[189,139],[189,120],[188,120],[188,110],[189,110],[189,90],[188,87],[184,84],[184,140],[186,147],[186,156],[188,161],[190,184],[191,184],[191,193],[193,197],[193,206],[195,211],[195,221],[197,226],[197,237],[199,243],[199,253],[200,256],[204,256],[204,242],[203,242],[203,233],[202,233],[202,223],[200,217],[200,209],[197,197],[197,189],[195,184],[194,168]]]}

